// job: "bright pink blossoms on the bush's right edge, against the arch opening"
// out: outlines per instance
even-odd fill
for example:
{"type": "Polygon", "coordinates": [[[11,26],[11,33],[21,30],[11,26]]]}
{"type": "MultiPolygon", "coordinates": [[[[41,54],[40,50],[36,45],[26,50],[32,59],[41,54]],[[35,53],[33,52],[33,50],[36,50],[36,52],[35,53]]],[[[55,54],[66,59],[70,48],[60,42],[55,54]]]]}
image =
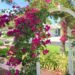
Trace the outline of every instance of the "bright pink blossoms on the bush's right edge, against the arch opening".
{"type": "MultiPolygon", "coordinates": [[[[50,33],[47,33],[49,30],[50,30],[50,26],[46,25],[45,28],[39,30],[40,31],[39,33],[35,33],[35,38],[32,39],[31,50],[33,50],[33,51],[36,50],[40,45],[46,46],[47,44],[51,44],[51,41],[49,39],[46,39],[46,38],[50,37],[50,33]]],[[[46,49],[46,50],[43,50],[42,53],[45,55],[48,52],[49,51],[46,49]]],[[[33,53],[33,54],[36,55],[35,53],[33,53]]]]}

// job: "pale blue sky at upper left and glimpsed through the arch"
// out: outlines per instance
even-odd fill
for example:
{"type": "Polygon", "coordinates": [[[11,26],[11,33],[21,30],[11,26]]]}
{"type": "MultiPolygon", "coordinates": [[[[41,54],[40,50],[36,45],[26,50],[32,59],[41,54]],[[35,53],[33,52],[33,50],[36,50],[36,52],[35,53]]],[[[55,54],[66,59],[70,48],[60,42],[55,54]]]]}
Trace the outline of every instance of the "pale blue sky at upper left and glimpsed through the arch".
{"type": "MultiPolygon", "coordinates": [[[[18,5],[20,7],[25,7],[25,6],[28,5],[28,2],[25,2],[24,0],[13,0],[13,1],[16,3],[16,5],[18,5]]],[[[0,10],[1,9],[12,9],[12,6],[13,6],[12,4],[9,5],[9,4],[5,3],[5,2],[0,1],[0,10]]],[[[53,18],[52,19],[49,18],[49,19],[51,20],[52,24],[56,23],[53,18]]],[[[60,21],[60,19],[57,20],[57,22],[59,22],[59,21],[60,21]]]]}

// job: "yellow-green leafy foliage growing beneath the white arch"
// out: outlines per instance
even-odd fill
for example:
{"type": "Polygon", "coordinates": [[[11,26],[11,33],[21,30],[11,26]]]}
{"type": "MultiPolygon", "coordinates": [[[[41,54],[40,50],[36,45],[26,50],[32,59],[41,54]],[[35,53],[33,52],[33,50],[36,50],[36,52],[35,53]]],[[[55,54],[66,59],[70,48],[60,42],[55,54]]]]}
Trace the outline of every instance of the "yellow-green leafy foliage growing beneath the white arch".
{"type": "Polygon", "coordinates": [[[49,46],[47,47],[49,49],[49,53],[45,56],[40,56],[40,62],[41,62],[41,68],[45,69],[52,69],[65,72],[67,69],[67,56],[60,53],[60,48],[58,46],[49,46]],[[51,50],[52,49],[52,50],[51,50]]]}

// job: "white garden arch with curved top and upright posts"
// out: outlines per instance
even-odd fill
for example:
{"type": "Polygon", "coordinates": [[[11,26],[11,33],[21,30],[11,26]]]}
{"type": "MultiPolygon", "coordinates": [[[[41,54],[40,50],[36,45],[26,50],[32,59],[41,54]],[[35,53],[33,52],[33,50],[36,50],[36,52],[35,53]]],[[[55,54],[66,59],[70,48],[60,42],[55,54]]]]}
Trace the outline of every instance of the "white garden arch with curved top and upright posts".
{"type": "MultiPolygon", "coordinates": [[[[69,8],[59,6],[58,8],[49,9],[50,13],[57,12],[57,11],[68,13],[75,18],[75,12],[69,8]]],[[[69,27],[68,27],[67,31],[68,31],[68,36],[71,37],[71,29],[69,27]]],[[[68,49],[69,49],[69,51],[68,51],[68,70],[69,70],[70,75],[74,75],[73,60],[72,60],[73,52],[71,50],[71,40],[70,39],[68,39],[68,49]]],[[[40,63],[37,62],[37,75],[40,75],[40,67],[39,66],[40,66],[40,63]]]]}

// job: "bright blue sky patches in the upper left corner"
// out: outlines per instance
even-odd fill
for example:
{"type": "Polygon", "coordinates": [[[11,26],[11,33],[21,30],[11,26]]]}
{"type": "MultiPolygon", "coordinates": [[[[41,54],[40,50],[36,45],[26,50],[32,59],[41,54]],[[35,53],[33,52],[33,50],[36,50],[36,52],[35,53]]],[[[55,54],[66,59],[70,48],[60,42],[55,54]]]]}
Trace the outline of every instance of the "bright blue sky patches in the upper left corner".
{"type": "MultiPolygon", "coordinates": [[[[28,3],[24,2],[24,0],[13,0],[13,1],[21,7],[28,5],[28,3]]],[[[0,10],[1,9],[12,9],[12,5],[6,4],[5,2],[0,2],[0,10]]]]}

